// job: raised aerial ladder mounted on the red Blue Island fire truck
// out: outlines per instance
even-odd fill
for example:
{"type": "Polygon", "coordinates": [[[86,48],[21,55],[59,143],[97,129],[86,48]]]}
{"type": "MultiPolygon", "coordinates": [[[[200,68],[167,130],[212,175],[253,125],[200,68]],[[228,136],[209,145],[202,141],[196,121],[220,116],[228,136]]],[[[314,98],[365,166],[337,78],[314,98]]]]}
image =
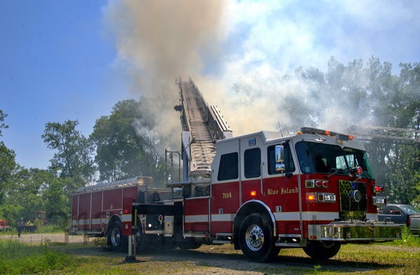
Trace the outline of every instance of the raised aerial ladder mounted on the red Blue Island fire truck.
{"type": "Polygon", "coordinates": [[[232,137],[232,130],[217,106],[207,104],[191,78],[183,81],[180,76],[176,84],[180,94],[180,105],[175,106],[175,110],[181,111],[183,181],[167,185],[181,187],[186,183],[205,183],[210,181],[216,141],[232,137]]]}

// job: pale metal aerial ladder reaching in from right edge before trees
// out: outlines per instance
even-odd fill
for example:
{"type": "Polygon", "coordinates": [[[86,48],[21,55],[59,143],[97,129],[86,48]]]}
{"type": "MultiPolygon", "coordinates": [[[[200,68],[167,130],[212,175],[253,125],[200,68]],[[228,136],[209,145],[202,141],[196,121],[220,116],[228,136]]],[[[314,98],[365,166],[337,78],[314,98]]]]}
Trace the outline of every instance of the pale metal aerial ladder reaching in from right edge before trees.
{"type": "Polygon", "coordinates": [[[405,145],[419,145],[420,143],[420,130],[417,129],[401,129],[392,127],[379,127],[369,125],[350,125],[347,129],[349,134],[357,136],[357,139],[365,141],[383,141],[400,143],[405,145]],[[412,143],[404,143],[412,142],[412,143]]]}

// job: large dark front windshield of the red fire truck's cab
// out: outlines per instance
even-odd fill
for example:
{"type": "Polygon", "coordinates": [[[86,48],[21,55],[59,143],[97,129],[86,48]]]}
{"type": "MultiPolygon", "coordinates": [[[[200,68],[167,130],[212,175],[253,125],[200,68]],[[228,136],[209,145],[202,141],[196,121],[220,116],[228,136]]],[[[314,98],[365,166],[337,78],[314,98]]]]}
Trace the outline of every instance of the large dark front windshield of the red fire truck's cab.
{"type": "Polygon", "coordinates": [[[349,168],[362,167],[362,176],[373,178],[367,155],[362,150],[301,141],[296,144],[297,158],[304,174],[323,173],[348,175],[349,168]]]}

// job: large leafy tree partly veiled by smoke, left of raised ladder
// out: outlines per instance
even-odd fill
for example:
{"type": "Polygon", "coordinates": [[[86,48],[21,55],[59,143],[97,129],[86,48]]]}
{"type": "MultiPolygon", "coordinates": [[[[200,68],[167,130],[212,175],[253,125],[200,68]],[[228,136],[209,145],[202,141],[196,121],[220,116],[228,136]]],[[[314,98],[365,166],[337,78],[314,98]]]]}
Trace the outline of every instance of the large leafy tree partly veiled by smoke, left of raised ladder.
{"type": "MultiPolygon", "coordinates": [[[[95,162],[99,181],[116,181],[134,176],[152,176],[155,185],[165,182],[165,141],[171,134],[160,132],[158,122],[162,99],[141,97],[119,101],[111,115],[102,116],[95,125],[90,139],[97,149],[95,162]]],[[[172,109],[172,108],[171,108],[172,109]]]]}

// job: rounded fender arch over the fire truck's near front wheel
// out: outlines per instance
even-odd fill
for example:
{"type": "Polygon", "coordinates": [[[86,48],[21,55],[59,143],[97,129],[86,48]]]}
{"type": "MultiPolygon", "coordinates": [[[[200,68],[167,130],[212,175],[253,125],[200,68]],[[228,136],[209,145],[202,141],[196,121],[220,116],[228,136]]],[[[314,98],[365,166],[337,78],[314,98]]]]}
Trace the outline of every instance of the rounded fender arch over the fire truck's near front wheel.
{"type": "Polygon", "coordinates": [[[274,214],[272,213],[271,209],[269,209],[267,204],[257,199],[251,199],[239,207],[233,222],[234,235],[239,232],[239,227],[241,226],[242,220],[244,220],[244,218],[251,213],[268,213],[272,219],[274,237],[277,237],[276,218],[274,218],[274,214]]]}

